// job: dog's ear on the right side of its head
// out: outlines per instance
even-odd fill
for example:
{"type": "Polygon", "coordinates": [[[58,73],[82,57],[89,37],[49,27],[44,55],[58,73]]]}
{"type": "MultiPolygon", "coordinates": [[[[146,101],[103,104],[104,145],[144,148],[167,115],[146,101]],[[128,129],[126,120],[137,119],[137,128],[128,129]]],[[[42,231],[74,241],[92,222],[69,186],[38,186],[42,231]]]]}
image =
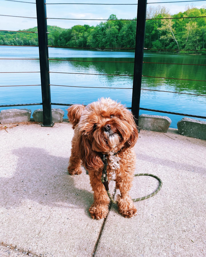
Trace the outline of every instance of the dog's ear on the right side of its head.
{"type": "Polygon", "coordinates": [[[132,112],[129,110],[127,110],[126,119],[127,119],[127,122],[132,126],[132,131],[131,131],[131,135],[130,135],[129,139],[125,143],[125,146],[124,146],[125,149],[132,148],[133,146],[135,146],[137,139],[138,139],[137,125],[135,123],[132,112]]]}

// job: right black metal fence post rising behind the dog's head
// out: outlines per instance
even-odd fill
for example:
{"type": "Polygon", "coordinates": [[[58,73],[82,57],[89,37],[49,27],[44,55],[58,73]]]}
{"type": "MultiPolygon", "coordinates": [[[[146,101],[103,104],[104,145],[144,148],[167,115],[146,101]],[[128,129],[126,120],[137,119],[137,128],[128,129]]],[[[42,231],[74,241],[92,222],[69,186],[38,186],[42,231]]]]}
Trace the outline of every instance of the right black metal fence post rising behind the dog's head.
{"type": "Polygon", "coordinates": [[[135,67],[132,89],[132,113],[135,116],[138,125],[140,111],[140,94],[142,83],[142,66],[145,42],[145,23],[146,23],[147,0],[138,0],[137,6],[137,29],[135,45],[135,67]]]}

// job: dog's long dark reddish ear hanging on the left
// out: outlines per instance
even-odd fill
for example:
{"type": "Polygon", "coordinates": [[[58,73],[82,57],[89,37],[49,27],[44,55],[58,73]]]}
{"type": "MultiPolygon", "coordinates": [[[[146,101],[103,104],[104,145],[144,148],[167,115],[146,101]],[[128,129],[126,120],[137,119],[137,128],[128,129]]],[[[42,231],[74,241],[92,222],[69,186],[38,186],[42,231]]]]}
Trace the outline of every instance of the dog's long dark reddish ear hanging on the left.
{"type": "Polygon", "coordinates": [[[100,156],[92,151],[91,143],[86,135],[79,137],[79,155],[85,169],[89,171],[97,170],[104,165],[100,156]]]}

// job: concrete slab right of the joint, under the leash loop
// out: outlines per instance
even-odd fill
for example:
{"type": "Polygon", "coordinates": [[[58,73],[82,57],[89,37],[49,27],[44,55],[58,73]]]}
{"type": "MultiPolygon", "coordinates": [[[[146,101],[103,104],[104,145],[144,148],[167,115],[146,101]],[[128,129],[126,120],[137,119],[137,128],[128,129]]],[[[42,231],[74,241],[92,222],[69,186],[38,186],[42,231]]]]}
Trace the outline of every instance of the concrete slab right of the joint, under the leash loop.
{"type": "MultiPolygon", "coordinates": [[[[134,218],[123,218],[112,204],[96,257],[206,256],[206,142],[172,132],[140,132],[136,172],[159,176],[163,187],[135,203],[134,218]]],[[[157,186],[154,178],[136,177],[131,196],[148,195],[157,186]]]]}

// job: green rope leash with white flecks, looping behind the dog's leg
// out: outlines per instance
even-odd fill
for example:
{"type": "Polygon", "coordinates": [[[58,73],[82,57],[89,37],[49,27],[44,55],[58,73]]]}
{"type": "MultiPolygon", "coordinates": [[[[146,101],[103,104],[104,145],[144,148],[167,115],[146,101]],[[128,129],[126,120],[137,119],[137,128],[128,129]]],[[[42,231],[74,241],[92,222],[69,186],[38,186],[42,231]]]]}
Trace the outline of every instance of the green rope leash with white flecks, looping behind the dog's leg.
{"type": "MultiPolygon", "coordinates": [[[[115,153],[114,155],[116,155],[116,154],[117,153],[115,153]]],[[[107,195],[109,196],[110,200],[114,204],[117,204],[117,202],[110,195],[110,191],[109,191],[109,183],[108,183],[108,178],[107,178],[107,165],[108,165],[108,163],[107,163],[107,158],[106,158],[105,154],[103,154],[102,161],[104,163],[104,168],[102,170],[102,176],[101,176],[102,184],[105,186],[105,189],[107,191],[107,195]]],[[[153,178],[156,178],[159,181],[159,186],[158,186],[158,189],[155,192],[153,192],[152,194],[144,196],[144,197],[132,199],[133,202],[138,202],[138,201],[142,201],[142,200],[145,200],[147,198],[150,198],[150,197],[156,195],[159,192],[159,190],[162,188],[162,180],[158,176],[148,174],[148,173],[138,173],[138,174],[134,175],[134,177],[136,177],[136,176],[151,176],[153,178]]]]}

